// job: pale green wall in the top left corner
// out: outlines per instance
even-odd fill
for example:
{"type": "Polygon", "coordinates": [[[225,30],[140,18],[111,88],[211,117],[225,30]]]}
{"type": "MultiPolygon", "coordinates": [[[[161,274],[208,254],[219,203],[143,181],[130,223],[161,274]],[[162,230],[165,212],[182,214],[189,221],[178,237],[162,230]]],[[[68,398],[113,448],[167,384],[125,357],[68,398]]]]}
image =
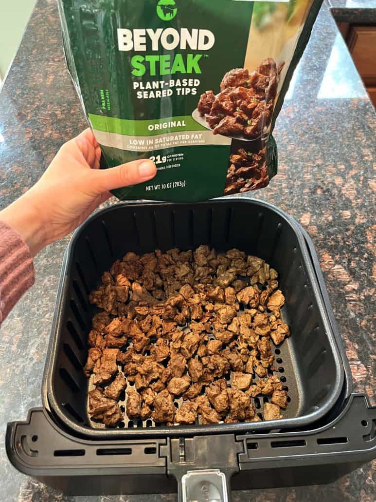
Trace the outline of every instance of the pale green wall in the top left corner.
{"type": "Polygon", "coordinates": [[[22,40],[35,0],[0,0],[0,78],[4,78],[22,40]]]}

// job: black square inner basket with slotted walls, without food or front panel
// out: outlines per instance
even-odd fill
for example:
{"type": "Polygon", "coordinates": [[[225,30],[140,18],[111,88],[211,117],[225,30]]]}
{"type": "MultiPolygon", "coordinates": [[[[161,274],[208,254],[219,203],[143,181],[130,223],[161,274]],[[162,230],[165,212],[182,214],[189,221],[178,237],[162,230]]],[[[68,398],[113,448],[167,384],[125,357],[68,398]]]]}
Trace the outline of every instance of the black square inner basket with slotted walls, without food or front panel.
{"type": "MultiPolygon", "coordinates": [[[[97,439],[297,430],[329,412],[343,384],[343,363],[301,230],[279,209],[251,199],[200,204],[120,203],[93,215],[76,231],[67,249],[52,337],[45,371],[45,406],[70,429],[97,439]],[[276,349],[280,377],[291,398],[283,419],[172,428],[128,421],[123,428],[95,428],[87,414],[89,381],[82,371],[87,334],[96,312],[88,303],[88,293],[127,251],[184,250],[200,244],[218,251],[237,247],[265,259],[280,274],[286,298],[282,314],[291,328],[290,338],[276,349]]],[[[262,406],[262,400],[256,401],[259,413],[262,406]]]]}

